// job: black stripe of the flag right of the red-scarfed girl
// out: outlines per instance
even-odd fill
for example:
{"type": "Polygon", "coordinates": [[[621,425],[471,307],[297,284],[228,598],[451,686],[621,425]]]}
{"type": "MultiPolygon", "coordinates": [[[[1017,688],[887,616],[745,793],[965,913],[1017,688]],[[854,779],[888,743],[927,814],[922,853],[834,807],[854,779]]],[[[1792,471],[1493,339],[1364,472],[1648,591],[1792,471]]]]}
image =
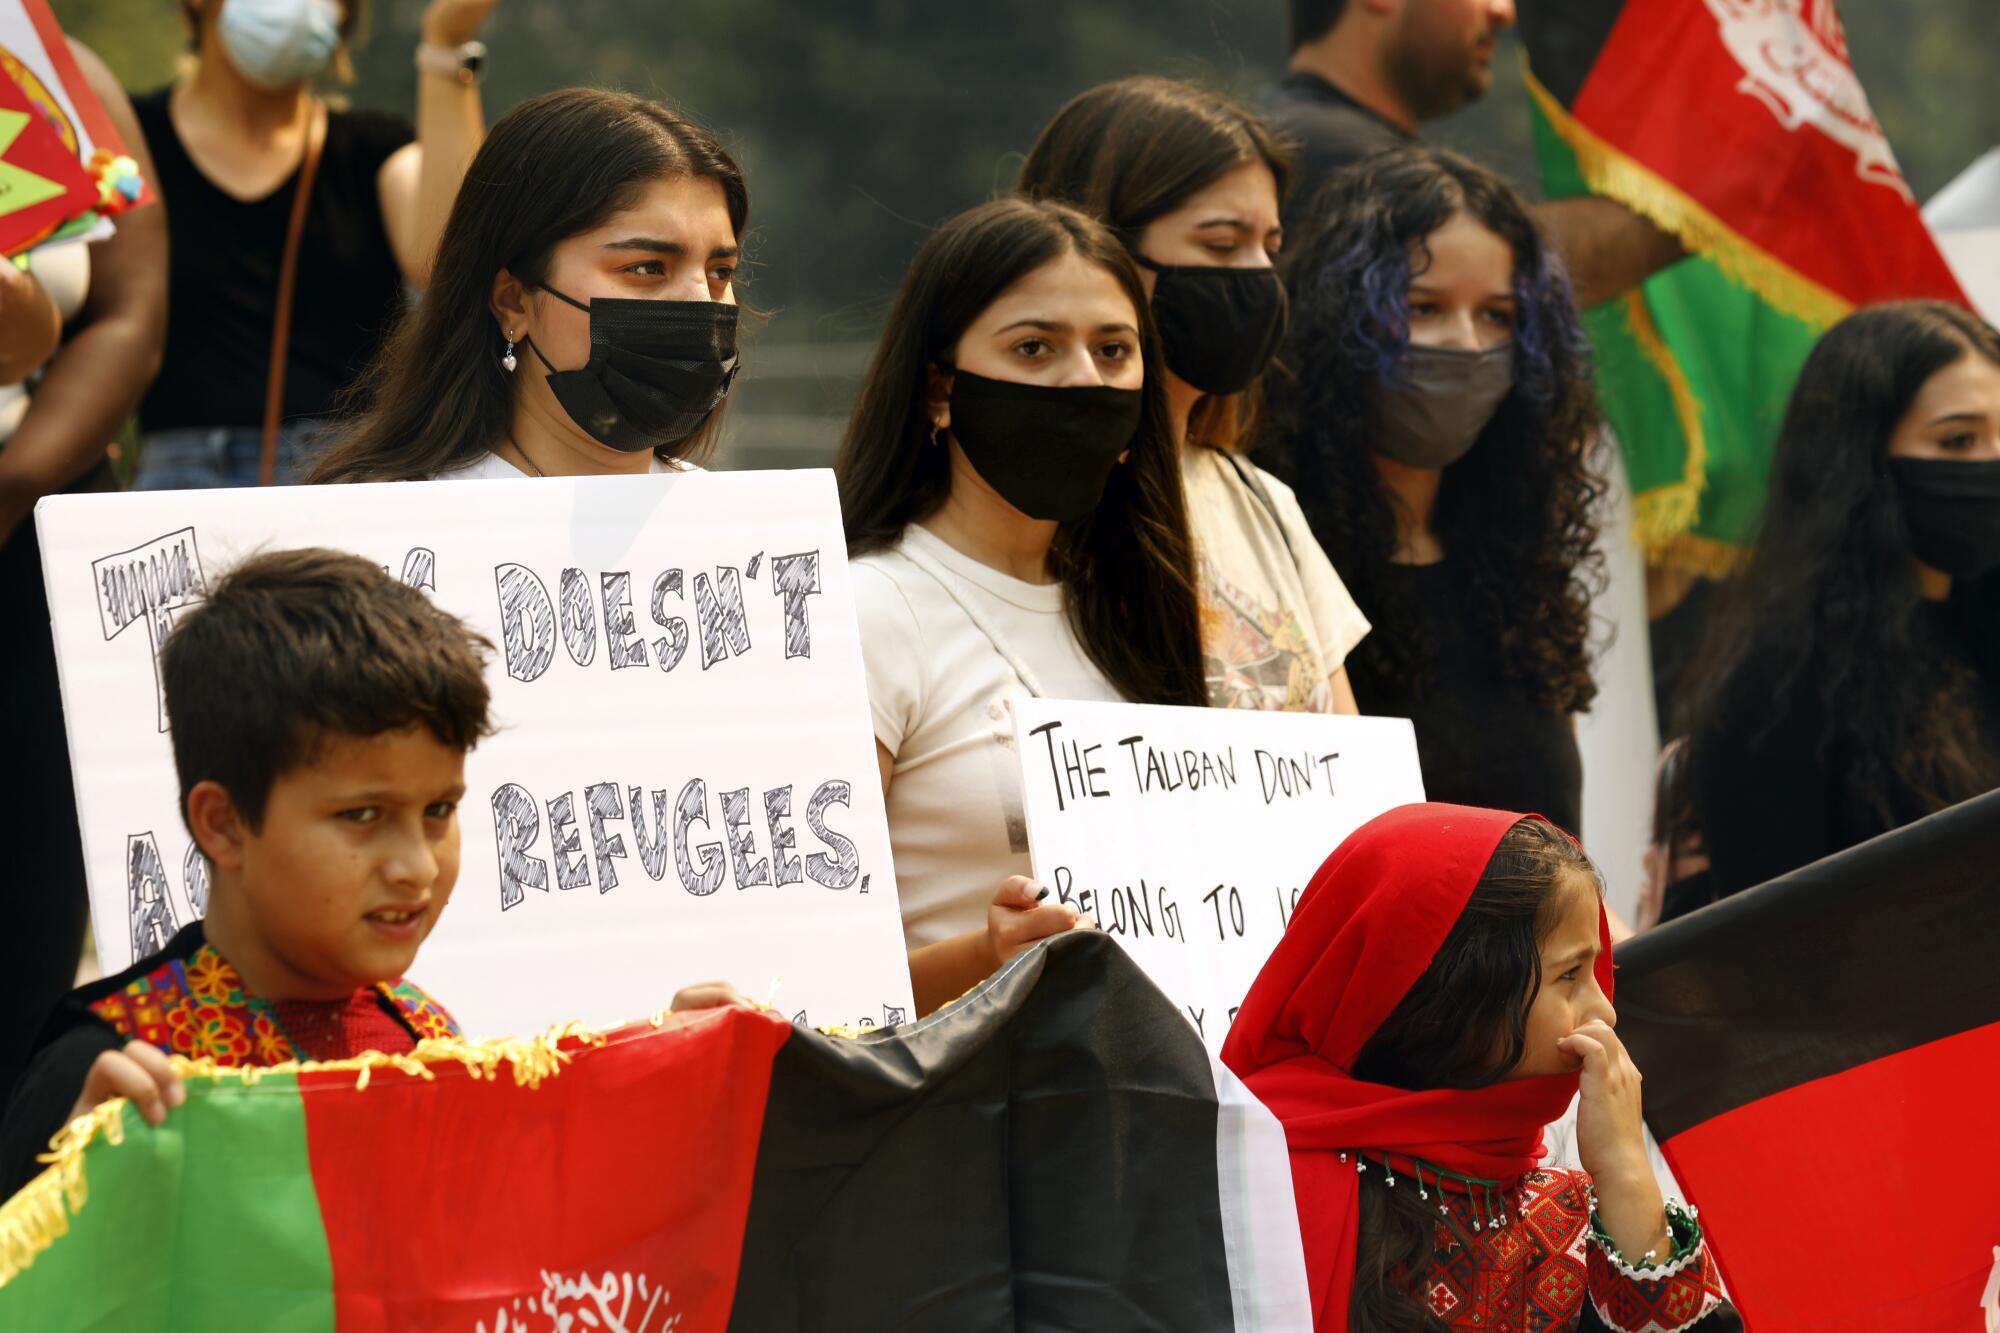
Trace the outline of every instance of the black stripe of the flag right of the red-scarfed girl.
{"type": "Polygon", "coordinates": [[[1662,1143],[2000,1023],[2000,791],[1620,945],[1618,1037],[1662,1143]]]}

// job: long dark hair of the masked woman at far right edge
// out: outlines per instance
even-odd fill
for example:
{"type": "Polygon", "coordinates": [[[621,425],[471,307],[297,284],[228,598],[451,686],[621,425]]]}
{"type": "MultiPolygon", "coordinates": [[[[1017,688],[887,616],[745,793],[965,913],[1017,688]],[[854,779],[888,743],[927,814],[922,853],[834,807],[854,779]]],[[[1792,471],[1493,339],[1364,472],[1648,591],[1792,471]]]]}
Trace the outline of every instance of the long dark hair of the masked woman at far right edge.
{"type": "MultiPolygon", "coordinates": [[[[1754,689],[1770,699],[1766,731],[1796,691],[1814,691],[1826,711],[1820,757],[1840,751],[1846,815],[1876,831],[2000,783],[2000,763],[1980,741],[1978,681],[1938,650],[1920,614],[1908,524],[1888,476],[1896,422],[1924,382],[1962,356],[2000,364],[2000,332],[1932,300],[1858,310],[1820,338],[1778,432],[1756,552],[1696,685],[1698,725],[1754,689]]],[[[1986,578],[1954,586],[1952,600],[1990,616],[1996,590],[2000,578],[1986,578]]]]}

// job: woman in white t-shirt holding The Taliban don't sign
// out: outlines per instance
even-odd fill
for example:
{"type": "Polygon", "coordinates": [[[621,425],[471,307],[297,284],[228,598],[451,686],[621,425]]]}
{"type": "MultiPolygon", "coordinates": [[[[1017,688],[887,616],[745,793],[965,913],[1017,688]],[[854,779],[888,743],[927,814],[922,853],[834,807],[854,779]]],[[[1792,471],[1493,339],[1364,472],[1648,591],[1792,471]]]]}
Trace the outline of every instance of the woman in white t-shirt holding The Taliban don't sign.
{"type": "Polygon", "coordinates": [[[836,470],[930,1011],[1078,923],[1024,879],[1010,701],[1206,701],[1158,336],[1118,240],[1026,200],[940,228],[836,470]]]}

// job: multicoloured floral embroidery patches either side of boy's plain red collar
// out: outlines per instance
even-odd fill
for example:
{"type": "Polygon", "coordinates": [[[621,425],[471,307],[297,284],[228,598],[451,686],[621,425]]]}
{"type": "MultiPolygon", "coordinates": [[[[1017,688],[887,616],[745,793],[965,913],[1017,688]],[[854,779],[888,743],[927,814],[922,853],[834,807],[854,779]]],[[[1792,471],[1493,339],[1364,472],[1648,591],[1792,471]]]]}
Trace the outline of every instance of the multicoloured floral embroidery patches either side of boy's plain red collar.
{"type": "MultiPolygon", "coordinates": [[[[412,1035],[456,1037],[458,1023],[408,981],[376,987],[412,1035]]],[[[220,953],[202,945],[186,959],[154,971],[90,1003],[120,1037],[172,1055],[218,1065],[282,1065],[310,1059],[284,1031],[266,1001],[244,995],[242,977],[220,953]]]]}

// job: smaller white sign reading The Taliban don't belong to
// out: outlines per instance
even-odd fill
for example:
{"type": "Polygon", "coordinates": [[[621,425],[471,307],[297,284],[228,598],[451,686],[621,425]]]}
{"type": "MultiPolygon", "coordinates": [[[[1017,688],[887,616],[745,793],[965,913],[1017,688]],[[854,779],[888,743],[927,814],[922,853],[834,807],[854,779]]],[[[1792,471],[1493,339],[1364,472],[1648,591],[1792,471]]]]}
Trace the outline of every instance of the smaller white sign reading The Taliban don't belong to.
{"type": "Polygon", "coordinates": [[[1014,701],[1034,877],[1212,1051],[1328,853],[1424,799],[1404,719],[1014,701]]]}

